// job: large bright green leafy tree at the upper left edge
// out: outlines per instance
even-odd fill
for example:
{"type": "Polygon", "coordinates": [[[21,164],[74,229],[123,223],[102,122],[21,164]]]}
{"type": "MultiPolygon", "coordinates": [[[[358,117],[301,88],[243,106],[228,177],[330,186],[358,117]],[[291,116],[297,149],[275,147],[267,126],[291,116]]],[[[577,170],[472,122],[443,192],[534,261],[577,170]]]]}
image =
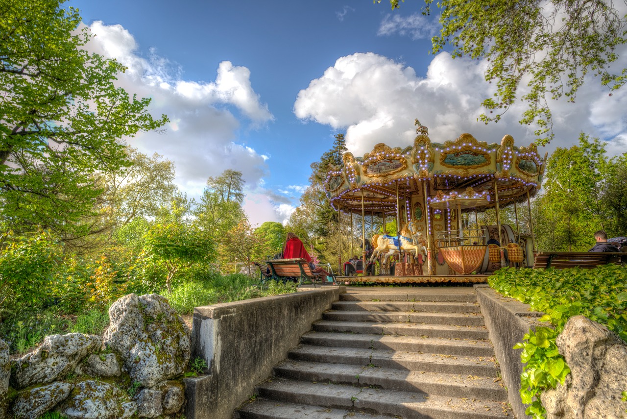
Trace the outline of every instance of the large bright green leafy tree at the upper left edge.
{"type": "Polygon", "coordinates": [[[94,174],[128,164],[120,141],[161,127],[150,99],[116,88],[125,67],[89,53],[88,29],[64,0],[0,3],[0,222],[64,240],[98,223],[94,174]]]}

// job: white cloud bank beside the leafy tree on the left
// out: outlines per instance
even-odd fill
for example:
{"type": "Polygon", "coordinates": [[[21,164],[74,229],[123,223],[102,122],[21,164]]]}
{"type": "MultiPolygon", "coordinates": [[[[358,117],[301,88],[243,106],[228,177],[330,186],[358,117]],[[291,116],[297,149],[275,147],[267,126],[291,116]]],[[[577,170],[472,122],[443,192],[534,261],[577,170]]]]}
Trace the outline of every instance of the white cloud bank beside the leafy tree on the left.
{"type": "Polygon", "coordinates": [[[90,29],[95,36],[88,49],[128,67],[117,83],[129,93],[152,98],[149,109],[154,117],[166,114],[170,119],[165,132],[140,133],[129,141],[131,146],[174,161],[176,183],[192,196],[203,190],[209,176],[219,176],[225,169],[241,171],[252,190],[260,184],[268,156],[239,144],[236,132],[242,124],[260,127],[274,117],[255,93],[248,68],[223,61],[217,70],[208,70],[209,81],[186,80],[179,65],[154,49],[147,58],[140,55],[123,26],[95,21],[90,29]],[[243,117],[236,117],[229,107],[243,117]]]}

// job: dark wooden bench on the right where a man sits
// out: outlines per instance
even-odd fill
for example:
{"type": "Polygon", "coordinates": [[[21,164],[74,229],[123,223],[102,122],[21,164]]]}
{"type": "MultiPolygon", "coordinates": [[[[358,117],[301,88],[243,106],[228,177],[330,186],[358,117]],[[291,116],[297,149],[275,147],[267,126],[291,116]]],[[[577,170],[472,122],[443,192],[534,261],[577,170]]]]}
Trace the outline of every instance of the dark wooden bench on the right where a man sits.
{"type": "Polygon", "coordinates": [[[627,262],[623,252],[540,252],[535,255],[534,268],[591,269],[608,263],[627,262]]]}

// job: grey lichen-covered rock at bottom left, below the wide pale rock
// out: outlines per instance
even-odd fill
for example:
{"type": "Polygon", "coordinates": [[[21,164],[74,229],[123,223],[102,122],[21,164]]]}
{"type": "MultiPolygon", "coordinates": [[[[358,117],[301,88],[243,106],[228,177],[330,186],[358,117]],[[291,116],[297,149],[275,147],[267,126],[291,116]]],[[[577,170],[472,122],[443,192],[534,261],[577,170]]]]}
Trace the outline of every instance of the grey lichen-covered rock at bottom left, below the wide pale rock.
{"type": "Polygon", "coordinates": [[[13,402],[13,414],[16,419],[37,419],[65,400],[70,395],[72,387],[70,383],[57,381],[24,390],[13,402]]]}

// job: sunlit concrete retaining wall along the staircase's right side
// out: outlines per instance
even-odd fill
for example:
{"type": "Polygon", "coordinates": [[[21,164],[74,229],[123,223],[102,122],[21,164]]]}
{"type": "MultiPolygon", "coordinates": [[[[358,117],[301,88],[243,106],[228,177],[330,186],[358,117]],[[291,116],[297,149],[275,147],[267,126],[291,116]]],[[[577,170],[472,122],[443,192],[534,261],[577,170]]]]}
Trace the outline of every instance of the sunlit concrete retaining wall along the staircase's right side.
{"type": "Polygon", "coordinates": [[[520,363],[522,349],[512,349],[522,342],[525,333],[536,326],[545,326],[537,321],[544,313],[530,311],[529,304],[503,297],[488,285],[475,285],[477,300],[485,317],[490,340],[500,364],[503,383],[507,386],[507,396],[514,415],[518,419],[530,418],[525,415],[527,406],[520,401],[520,374],[524,364],[520,363]]]}

